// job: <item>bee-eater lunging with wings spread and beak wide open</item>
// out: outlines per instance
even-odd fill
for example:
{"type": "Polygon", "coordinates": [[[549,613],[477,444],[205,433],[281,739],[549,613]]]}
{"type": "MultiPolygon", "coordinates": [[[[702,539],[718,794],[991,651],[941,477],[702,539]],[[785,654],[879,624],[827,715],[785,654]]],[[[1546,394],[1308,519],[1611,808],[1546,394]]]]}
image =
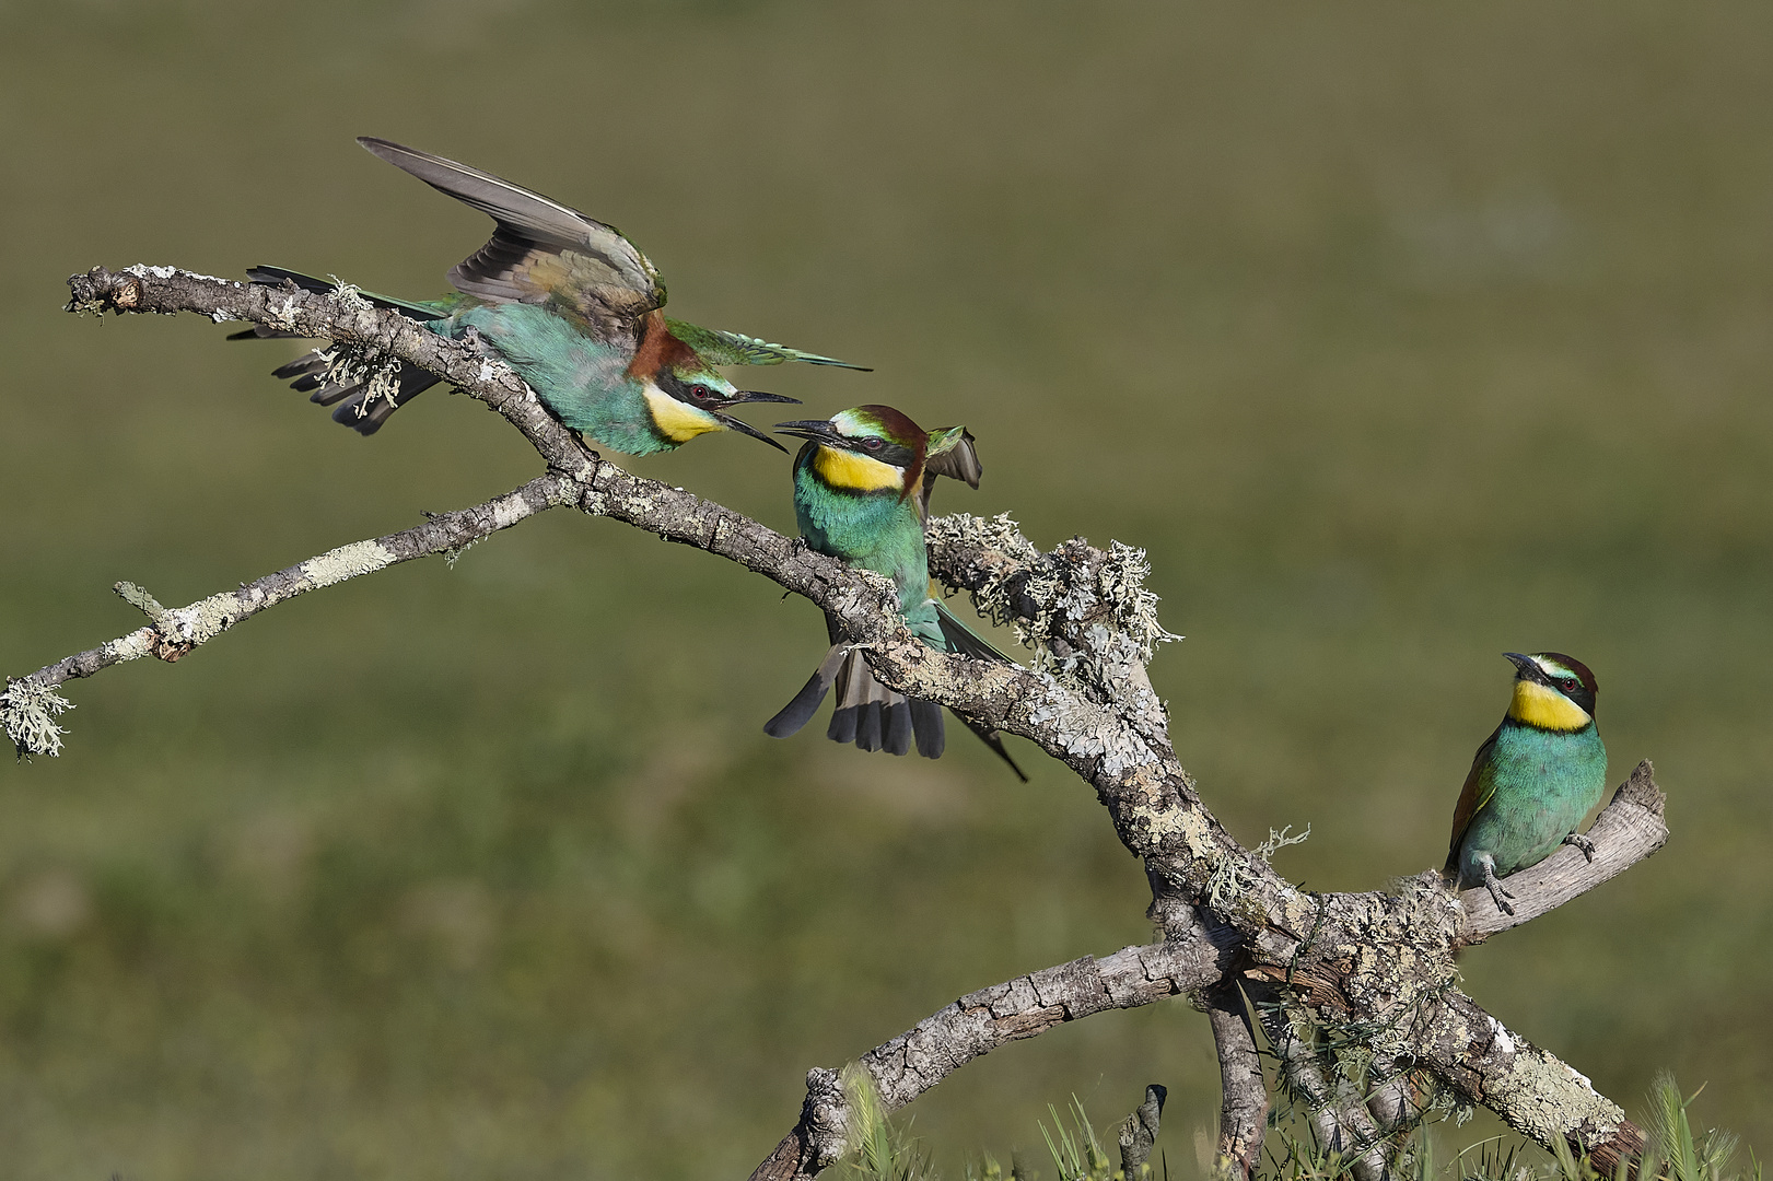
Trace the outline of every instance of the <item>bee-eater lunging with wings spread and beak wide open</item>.
{"type": "MultiPolygon", "coordinates": [[[[739,403],[794,403],[778,394],[734,388],[715,365],[778,365],[785,360],[862,369],[847,362],[768,344],[736,332],[667,319],[665,284],[647,255],[613,225],[569,209],[496,176],[401,147],[358,138],[376,156],[426,184],[491,215],[491,241],[449,273],[456,293],[410,301],[367,294],[372,303],[424,321],[445,337],[470,330],[491,344],[560,422],[631,456],[672,450],[709,431],[743,431],[778,450],[778,442],[723,413],[739,403]]],[[[282,268],[254,268],[261,284],[291,280],[309,291],[333,284],[282,268]]],[[[241,337],[294,333],[259,326],[241,337]]],[[[374,434],[388,415],[438,383],[402,365],[372,388],[360,374],[335,374],[316,349],[275,371],[294,378],[333,420],[374,434]]]]}

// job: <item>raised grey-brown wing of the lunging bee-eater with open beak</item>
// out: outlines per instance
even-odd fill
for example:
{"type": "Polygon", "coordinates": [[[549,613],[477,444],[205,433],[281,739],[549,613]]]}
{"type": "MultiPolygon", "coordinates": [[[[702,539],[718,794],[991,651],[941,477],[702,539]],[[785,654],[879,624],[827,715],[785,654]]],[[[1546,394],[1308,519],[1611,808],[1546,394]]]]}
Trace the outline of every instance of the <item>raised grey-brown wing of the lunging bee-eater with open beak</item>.
{"type": "Polygon", "coordinates": [[[558,300],[610,328],[665,305],[652,262],[613,225],[443,156],[367,135],[358,144],[498,222],[491,241],[450,270],[459,291],[493,303],[558,300]]]}

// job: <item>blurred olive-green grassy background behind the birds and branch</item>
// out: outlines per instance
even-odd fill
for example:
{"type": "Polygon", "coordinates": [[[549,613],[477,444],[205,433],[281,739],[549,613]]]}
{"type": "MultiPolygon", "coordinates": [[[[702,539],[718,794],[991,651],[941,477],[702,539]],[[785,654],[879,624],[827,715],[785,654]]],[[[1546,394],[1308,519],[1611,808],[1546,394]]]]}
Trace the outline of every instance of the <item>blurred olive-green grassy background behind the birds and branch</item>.
{"type": "MultiPolygon", "coordinates": [[[[374,440],[289,342],[60,310],[96,262],[427,296],[486,220],[372,133],[628,231],[672,312],[878,367],[808,411],[980,438],[1028,536],[1151,550],[1177,750],[1278,865],[1438,865],[1504,649],[1599,674],[1654,860],[1470,952],[1628,1107],[1656,1068],[1773,1146],[1773,9],[0,5],[0,670],[535,458],[463,397],[374,440]]],[[[754,420],[773,420],[768,410],[754,420]]],[[[789,528],[787,463],[637,468],[789,528]]],[[[801,1076],[968,989],[1147,938],[1092,794],[759,725],[823,651],[738,567],[553,514],[172,669],[74,683],[0,766],[9,1177],[734,1176],[801,1076]]],[[[1216,1075],[1184,1004],[1009,1046],[915,1108],[938,1161],[1216,1075]]],[[[1475,1140],[1484,1124],[1450,1137],[1475,1140]]]]}

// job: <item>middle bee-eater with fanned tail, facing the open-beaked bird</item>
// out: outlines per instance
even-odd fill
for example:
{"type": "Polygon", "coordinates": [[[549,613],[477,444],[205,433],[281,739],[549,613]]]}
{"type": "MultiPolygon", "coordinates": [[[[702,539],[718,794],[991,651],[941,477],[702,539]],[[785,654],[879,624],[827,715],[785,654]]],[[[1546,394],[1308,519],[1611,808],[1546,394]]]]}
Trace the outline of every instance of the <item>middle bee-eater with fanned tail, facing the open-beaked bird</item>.
{"type": "MultiPolygon", "coordinates": [[[[924,520],[929,482],[954,475],[979,484],[979,456],[966,427],[924,431],[892,406],[856,406],[828,422],[778,422],[784,434],[805,438],[794,458],[794,518],[800,536],[819,553],[894,580],[899,610],[911,633],[943,653],[1009,663],[972,633],[933,596],[924,520]],[[934,456],[934,458],[931,458],[934,456]]],[[[807,725],[832,684],[837,708],[826,738],[863,750],[941,757],[941,708],[908,699],[874,679],[862,653],[842,642],[837,621],[826,617],[832,649],[782,711],[764,723],[771,738],[787,738],[807,725]]],[[[1002,739],[986,727],[968,727],[1023,780],[1002,739]]]]}

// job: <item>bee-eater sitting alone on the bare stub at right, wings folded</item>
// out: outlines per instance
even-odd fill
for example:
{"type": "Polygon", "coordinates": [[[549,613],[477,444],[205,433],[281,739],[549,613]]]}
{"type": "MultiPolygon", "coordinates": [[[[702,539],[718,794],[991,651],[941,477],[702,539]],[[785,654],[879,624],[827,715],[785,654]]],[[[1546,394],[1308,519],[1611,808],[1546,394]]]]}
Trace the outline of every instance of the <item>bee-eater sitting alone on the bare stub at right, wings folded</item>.
{"type": "Polygon", "coordinates": [[[1514,897],[1496,881],[1537,865],[1560,844],[1594,860],[1594,842],[1576,825],[1606,787],[1606,747],[1594,729],[1594,674],[1560,653],[1514,661],[1514,697],[1502,725],[1477,748],[1452,814],[1443,871],[1456,888],[1484,885],[1512,915],[1514,897]]]}

